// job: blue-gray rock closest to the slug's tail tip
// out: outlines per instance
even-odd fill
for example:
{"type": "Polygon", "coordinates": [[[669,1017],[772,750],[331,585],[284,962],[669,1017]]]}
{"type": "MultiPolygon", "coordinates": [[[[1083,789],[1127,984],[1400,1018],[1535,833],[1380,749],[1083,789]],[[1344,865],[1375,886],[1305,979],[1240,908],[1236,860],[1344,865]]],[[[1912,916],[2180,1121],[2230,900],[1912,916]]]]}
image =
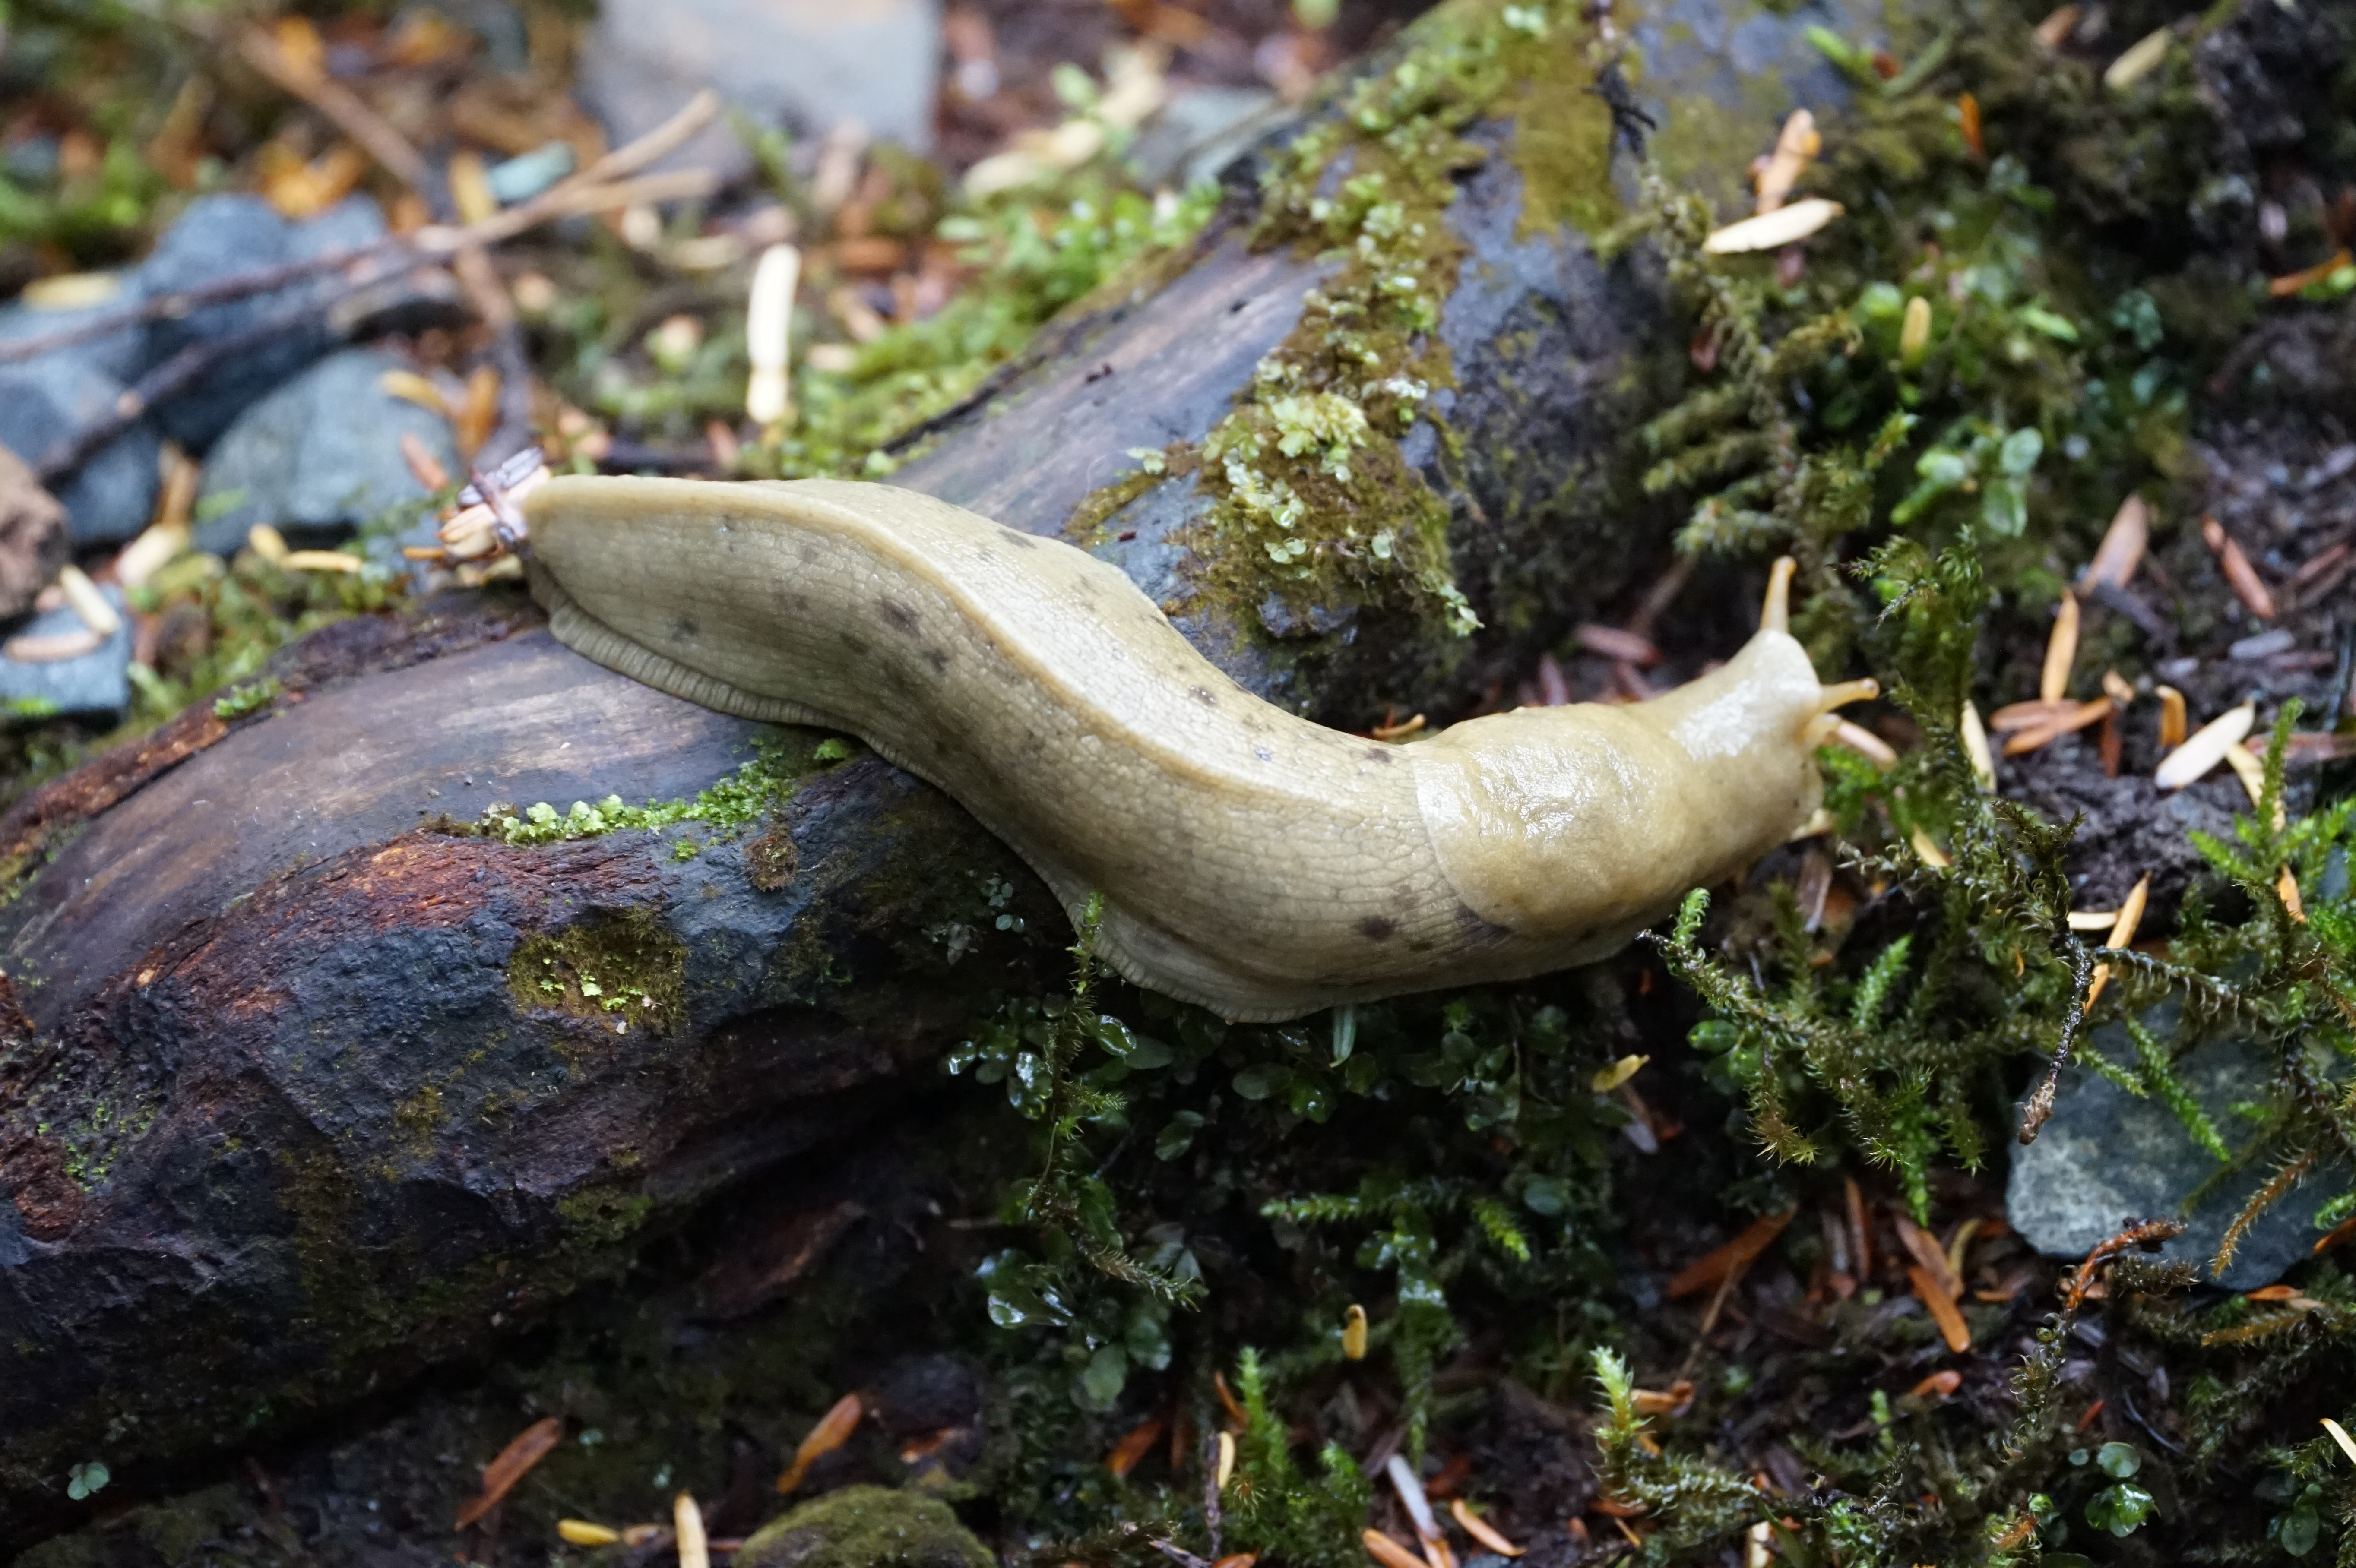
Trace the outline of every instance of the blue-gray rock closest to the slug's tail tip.
{"type": "Polygon", "coordinates": [[[346,348],[238,414],[205,464],[196,546],[231,556],[254,523],[320,534],[325,544],[398,501],[422,499],[426,490],[401,457],[403,436],[417,436],[455,473],[450,424],[386,393],[386,370],[403,363],[346,348]]]}

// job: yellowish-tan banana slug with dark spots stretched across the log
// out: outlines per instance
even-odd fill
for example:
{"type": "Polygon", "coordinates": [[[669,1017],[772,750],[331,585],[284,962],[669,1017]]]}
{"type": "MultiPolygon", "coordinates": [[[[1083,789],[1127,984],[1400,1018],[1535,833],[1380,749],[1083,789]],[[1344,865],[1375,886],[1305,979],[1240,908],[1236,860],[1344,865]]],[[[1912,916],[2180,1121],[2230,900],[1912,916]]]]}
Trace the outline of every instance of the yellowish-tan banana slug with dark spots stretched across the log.
{"type": "Polygon", "coordinates": [[[1600,958],[1783,843],[1824,687],[1767,612],[1642,704],[1381,744],[1235,685],[1117,567],[909,490],[556,478],[523,499],[568,647],[744,718],[858,735],[1027,859],[1129,979],[1230,1019],[1600,958]]]}

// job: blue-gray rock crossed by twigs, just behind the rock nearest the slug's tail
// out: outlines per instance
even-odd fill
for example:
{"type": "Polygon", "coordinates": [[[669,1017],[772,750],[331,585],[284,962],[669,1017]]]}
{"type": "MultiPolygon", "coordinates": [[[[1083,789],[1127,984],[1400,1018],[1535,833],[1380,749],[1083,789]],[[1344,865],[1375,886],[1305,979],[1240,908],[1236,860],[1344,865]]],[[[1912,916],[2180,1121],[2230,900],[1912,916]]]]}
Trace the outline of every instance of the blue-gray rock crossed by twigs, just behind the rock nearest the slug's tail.
{"type": "MultiPolygon", "coordinates": [[[[384,214],[365,195],[353,195],[306,224],[278,217],[259,195],[203,195],[155,242],[139,268],[148,294],[198,287],[259,266],[306,261],[332,250],[351,250],[384,235],[384,214]]],[[[311,278],[269,294],[252,294],[158,320],[146,330],[146,367],[174,353],[259,327],[304,299],[325,294],[330,283],[311,278]]],[[[325,313],[290,323],[262,348],[238,353],[167,398],[155,410],[165,436],[191,452],[212,445],[262,393],[271,391],[335,344],[325,313]]]]}

